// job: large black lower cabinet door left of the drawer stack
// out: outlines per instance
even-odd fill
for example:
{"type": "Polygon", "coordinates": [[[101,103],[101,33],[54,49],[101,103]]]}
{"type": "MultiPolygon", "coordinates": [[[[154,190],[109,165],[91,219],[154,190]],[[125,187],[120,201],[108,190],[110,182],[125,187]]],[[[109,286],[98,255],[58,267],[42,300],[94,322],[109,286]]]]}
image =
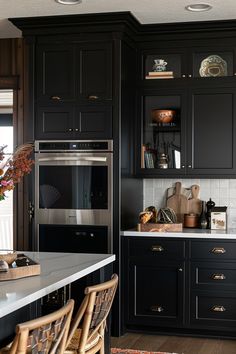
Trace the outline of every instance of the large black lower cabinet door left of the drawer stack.
{"type": "Polygon", "coordinates": [[[130,261],[129,323],[173,325],[183,319],[183,264],[130,261]]]}

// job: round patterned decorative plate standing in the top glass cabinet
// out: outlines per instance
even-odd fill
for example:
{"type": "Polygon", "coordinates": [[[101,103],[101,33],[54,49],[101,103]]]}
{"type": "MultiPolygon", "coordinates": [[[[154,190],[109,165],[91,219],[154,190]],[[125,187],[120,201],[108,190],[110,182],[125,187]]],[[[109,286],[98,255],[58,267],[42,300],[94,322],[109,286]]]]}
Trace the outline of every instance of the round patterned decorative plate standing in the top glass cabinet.
{"type": "Polygon", "coordinates": [[[199,74],[201,77],[227,76],[227,63],[219,55],[210,55],[201,62],[199,74]]]}

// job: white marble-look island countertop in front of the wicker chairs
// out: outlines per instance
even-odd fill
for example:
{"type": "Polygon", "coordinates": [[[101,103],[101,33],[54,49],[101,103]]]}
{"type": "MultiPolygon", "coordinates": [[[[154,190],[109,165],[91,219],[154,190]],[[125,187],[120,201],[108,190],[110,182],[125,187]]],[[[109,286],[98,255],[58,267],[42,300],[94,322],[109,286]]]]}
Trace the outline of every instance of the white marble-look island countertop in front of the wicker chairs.
{"type": "Polygon", "coordinates": [[[40,263],[41,274],[0,282],[0,318],[115,260],[109,254],[20,253],[40,263]]]}

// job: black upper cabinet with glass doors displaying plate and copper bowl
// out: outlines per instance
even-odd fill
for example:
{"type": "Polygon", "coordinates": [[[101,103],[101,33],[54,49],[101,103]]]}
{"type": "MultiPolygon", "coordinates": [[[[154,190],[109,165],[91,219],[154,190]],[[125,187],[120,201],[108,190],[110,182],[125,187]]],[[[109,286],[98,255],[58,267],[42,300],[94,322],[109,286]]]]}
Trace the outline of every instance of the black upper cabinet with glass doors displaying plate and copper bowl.
{"type": "Polygon", "coordinates": [[[233,41],[159,45],[139,52],[136,175],[235,176],[233,41]]]}

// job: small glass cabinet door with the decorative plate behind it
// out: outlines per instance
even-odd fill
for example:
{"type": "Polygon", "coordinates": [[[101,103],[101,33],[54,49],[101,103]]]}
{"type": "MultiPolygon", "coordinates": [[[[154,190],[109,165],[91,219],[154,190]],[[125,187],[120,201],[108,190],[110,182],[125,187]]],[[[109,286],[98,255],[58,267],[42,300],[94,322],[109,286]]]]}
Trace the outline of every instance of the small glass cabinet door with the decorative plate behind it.
{"type": "Polygon", "coordinates": [[[233,50],[194,50],[192,54],[193,77],[227,77],[234,75],[233,50]]]}

